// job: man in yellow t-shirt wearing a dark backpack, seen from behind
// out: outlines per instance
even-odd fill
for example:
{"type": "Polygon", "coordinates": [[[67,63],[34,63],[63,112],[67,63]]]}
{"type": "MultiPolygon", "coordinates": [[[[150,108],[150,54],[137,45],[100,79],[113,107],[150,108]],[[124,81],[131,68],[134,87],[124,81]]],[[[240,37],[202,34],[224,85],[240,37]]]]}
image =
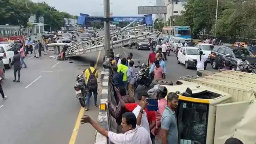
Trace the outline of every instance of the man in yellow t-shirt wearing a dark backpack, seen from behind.
{"type": "Polygon", "coordinates": [[[90,63],[90,68],[86,69],[84,72],[86,82],[87,82],[87,88],[88,88],[88,95],[86,96],[86,107],[85,111],[89,110],[89,102],[90,102],[90,97],[94,96],[94,107],[98,107],[97,104],[97,91],[98,91],[98,83],[97,83],[97,78],[98,78],[98,70],[94,68],[94,62],[90,63]]]}

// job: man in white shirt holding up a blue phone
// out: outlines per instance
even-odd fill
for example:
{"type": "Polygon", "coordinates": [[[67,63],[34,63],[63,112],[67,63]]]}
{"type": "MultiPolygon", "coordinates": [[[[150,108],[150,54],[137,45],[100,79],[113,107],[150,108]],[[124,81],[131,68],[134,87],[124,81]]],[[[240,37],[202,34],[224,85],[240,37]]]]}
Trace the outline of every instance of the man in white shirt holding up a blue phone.
{"type": "Polygon", "coordinates": [[[140,91],[137,96],[138,106],[132,111],[132,113],[137,117],[137,126],[144,127],[148,131],[148,134],[150,134],[147,113],[145,111],[145,108],[148,105],[148,102],[146,101],[148,97],[149,96],[146,92],[140,91]]]}

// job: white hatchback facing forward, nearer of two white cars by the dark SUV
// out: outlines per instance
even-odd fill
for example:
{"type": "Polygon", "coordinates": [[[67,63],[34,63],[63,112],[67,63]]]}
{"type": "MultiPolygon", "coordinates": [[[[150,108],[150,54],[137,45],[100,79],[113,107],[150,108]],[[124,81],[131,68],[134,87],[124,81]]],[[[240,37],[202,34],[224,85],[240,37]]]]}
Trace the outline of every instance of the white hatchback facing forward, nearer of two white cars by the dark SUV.
{"type": "Polygon", "coordinates": [[[181,47],[178,51],[178,64],[185,64],[186,68],[196,67],[196,59],[199,57],[200,49],[196,47],[181,47]]]}

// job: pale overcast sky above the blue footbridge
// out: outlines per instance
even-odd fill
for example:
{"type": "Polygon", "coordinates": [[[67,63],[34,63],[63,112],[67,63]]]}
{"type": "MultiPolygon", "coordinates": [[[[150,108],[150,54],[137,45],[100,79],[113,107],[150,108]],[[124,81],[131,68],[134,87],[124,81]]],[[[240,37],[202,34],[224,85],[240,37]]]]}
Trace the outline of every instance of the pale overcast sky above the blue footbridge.
{"type": "MultiPolygon", "coordinates": [[[[93,16],[103,16],[103,0],[32,0],[54,6],[59,11],[66,11],[72,15],[86,13],[93,16]]],[[[110,12],[114,16],[137,16],[138,6],[153,6],[156,0],[110,0],[110,12]],[[149,3],[151,2],[151,3],[149,3]],[[153,3],[153,4],[152,4],[153,3]]]]}

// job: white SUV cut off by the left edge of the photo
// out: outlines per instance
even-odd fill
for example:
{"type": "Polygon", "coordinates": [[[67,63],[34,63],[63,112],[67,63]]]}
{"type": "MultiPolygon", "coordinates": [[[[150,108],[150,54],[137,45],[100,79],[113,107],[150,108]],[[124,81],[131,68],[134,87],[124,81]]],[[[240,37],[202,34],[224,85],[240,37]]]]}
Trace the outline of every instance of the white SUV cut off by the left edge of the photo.
{"type": "Polygon", "coordinates": [[[4,66],[8,69],[12,67],[12,57],[14,56],[14,48],[10,44],[0,44],[0,57],[3,57],[4,66]]]}

